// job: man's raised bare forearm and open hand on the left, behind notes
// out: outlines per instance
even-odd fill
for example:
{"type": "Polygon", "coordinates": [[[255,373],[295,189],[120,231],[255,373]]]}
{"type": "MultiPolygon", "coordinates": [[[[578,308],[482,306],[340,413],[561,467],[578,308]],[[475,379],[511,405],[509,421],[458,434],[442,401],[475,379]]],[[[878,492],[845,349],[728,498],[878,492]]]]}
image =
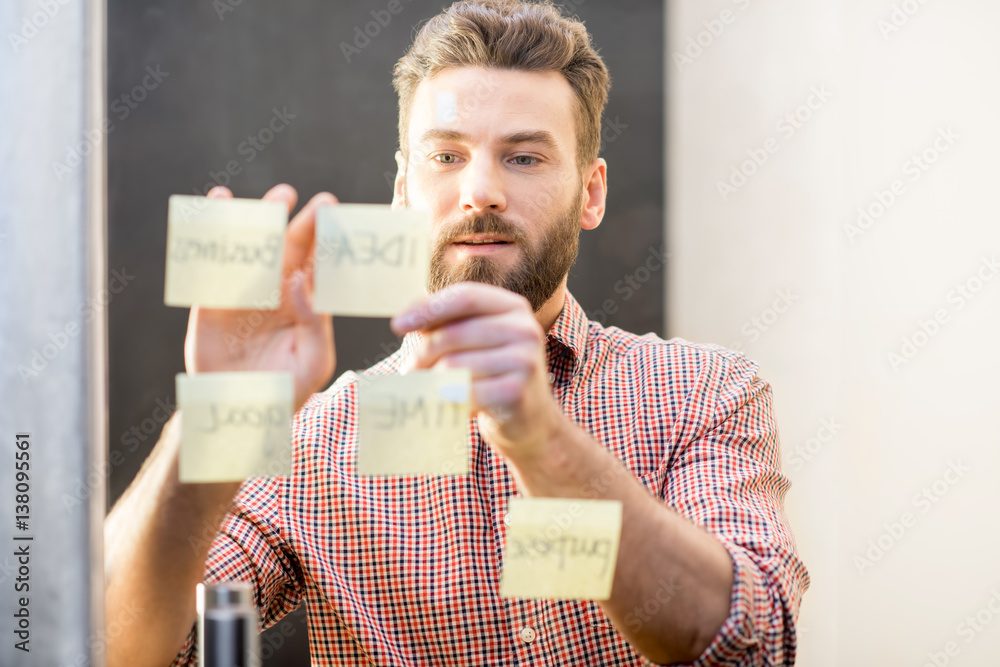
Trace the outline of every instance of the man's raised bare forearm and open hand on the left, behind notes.
{"type": "MultiPolygon", "coordinates": [[[[214,188],[214,197],[232,197],[214,188]]],[[[287,185],[264,199],[289,211],[297,194],[287,185]]],[[[189,373],[288,371],[295,410],[330,378],[335,365],[333,325],[312,312],[311,258],[316,208],[334,204],[321,193],[303,207],[285,234],[281,305],[246,335],[251,311],[192,308],[185,341],[189,373]],[[234,346],[232,341],[237,341],[234,346]]],[[[105,522],[107,627],[125,631],[108,637],[109,667],[170,664],[196,618],[195,586],[202,581],[212,539],[239,483],[181,484],[178,479],[180,422],[176,414],[142,471],[105,522]],[[190,540],[192,536],[208,539],[190,540]]]]}

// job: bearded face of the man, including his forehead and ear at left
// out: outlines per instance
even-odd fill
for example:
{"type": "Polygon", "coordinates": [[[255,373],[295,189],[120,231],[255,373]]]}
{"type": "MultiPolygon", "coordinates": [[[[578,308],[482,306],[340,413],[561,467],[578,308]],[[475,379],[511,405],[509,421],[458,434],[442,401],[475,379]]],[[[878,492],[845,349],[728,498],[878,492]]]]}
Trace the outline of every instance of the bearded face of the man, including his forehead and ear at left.
{"type": "Polygon", "coordinates": [[[537,311],[563,284],[584,194],[573,110],[557,72],[463,67],[420,83],[395,203],[430,214],[432,292],[475,280],[537,311]]]}

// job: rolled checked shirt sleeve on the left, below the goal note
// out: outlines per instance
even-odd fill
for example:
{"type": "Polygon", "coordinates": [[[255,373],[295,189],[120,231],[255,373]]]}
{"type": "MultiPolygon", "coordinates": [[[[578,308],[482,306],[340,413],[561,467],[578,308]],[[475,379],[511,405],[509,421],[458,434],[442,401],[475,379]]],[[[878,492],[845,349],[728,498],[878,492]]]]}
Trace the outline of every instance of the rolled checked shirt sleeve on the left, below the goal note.
{"type": "MultiPolygon", "coordinates": [[[[212,539],[205,561],[205,583],[246,581],[253,585],[254,604],[261,610],[261,628],[268,628],[295,610],[305,590],[304,575],[294,552],[280,534],[284,478],[254,478],[241,487],[232,509],[212,539]]],[[[188,638],[172,663],[175,667],[197,665],[195,634],[188,638]]]]}

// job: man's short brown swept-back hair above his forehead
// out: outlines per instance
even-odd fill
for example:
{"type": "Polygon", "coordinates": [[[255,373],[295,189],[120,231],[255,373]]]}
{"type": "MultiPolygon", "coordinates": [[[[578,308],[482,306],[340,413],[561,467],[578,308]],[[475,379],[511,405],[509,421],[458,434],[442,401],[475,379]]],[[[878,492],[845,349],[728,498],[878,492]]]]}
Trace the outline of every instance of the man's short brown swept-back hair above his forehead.
{"type": "Polygon", "coordinates": [[[580,172],[597,158],[611,78],[583,23],[564,16],[550,0],[462,0],[424,24],[393,68],[405,158],[417,86],[447,67],[468,66],[562,74],[576,94],[580,172]]]}

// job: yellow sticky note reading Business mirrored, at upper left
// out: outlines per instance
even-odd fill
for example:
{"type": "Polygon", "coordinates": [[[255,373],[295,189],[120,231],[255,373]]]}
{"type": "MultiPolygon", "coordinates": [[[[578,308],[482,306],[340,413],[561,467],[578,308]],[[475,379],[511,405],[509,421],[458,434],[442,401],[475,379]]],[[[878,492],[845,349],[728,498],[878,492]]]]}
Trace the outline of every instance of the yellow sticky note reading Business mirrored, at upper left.
{"type": "Polygon", "coordinates": [[[287,224],[281,202],[173,195],[163,302],[276,309],[287,224]]]}

